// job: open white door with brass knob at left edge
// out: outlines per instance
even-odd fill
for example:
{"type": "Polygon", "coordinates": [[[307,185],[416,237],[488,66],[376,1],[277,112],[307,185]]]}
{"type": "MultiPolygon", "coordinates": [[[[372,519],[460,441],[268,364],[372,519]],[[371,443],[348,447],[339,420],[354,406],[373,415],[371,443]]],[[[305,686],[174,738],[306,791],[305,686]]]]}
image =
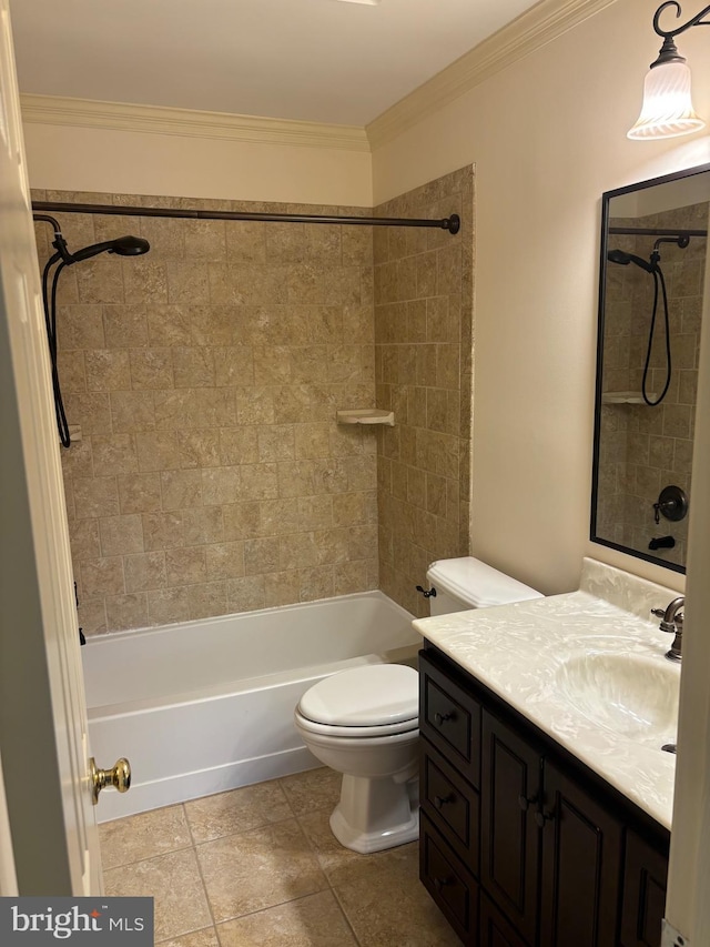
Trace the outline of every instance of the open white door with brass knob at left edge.
{"type": "Polygon", "coordinates": [[[21,895],[101,893],[59,441],[0,0],[0,747],[21,895]]]}

